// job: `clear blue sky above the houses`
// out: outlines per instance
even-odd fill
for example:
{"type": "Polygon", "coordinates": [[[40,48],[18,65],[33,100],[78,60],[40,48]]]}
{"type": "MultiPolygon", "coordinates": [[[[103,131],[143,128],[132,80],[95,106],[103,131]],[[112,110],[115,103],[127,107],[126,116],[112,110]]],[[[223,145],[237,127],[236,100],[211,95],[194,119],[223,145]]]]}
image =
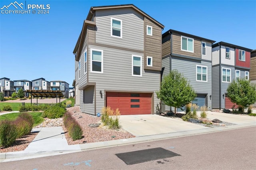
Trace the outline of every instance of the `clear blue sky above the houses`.
{"type": "MultiPolygon", "coordinates": [[[[0,78],[70,84],[73,49],[91,6],[134,4],[169,29],[256,49],[256,1],[16,0],[50,4],[49,14],[0,14],[0,78]]],[[[0,1],[0,8],[15,0],[0,1]]],[[[13,6],[9,9],[15,10],[13,6]]],[[[37,11],[37,10],[36,10],[37,11]]]]}

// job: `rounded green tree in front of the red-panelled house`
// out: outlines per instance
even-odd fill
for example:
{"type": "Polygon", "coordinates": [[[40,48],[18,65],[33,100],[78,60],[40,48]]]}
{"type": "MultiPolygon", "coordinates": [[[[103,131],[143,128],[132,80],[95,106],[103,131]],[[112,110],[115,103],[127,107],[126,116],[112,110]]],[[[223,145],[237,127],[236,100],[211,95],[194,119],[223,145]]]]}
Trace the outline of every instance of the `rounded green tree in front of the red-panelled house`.
{"type": "Polygon", "coordinates": [[[245,108],[256,102],[256,85],[251,84],[248,80],[240,79],[238,82],[233,80],[228,85],[227,92],[230,101],[241,105],[243,112],[245,108]]]}

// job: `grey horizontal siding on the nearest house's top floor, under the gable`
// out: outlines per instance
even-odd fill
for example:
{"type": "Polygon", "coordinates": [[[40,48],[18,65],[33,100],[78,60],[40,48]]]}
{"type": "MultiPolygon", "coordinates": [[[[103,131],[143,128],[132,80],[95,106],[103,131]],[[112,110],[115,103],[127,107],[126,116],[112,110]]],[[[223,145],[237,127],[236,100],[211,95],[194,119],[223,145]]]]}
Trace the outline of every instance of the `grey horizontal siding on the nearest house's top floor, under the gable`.
{"type": "Polygon", "coordinates": [[[96,43],[144,50],[144,17],[132,8],[98,10],[96,43]],[[122,38],[111,37],[111,17],[122,20],[122,38]]]}

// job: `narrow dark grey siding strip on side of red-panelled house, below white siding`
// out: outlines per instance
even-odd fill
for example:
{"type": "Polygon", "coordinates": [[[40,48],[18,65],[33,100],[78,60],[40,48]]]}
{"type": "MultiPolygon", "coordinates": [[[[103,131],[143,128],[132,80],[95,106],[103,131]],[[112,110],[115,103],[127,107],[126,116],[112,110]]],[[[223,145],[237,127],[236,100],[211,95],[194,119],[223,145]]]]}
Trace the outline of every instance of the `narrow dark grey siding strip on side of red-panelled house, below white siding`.
{"type": "Polygon", "coordinates": [[[212,66],[212,108],[220,108],[220,66],[212,66]]]}

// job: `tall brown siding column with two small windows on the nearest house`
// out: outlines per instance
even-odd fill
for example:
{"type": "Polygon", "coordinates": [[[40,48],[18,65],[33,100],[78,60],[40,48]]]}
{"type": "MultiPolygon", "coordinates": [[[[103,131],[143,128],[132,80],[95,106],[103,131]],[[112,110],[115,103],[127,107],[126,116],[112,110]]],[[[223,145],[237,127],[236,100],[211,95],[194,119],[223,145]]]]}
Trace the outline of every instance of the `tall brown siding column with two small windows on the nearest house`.
{"type": "MultiPolygon", "coordinates": [[[[158,27],[156,24],[148,20],[148,18],[144,18],[144,36],[145,36],[145,55],[144,61],[146,61],[147,56],[153,58],[153,67],[154,69],[158,68],[158,70],[162,69],[162,29],[158,27]],[[152,36],[148,36],[147,34],[147,25],[152,26],[152,36]]],[[[144,62],[144,67],[146,67],[146,63],[144,62]]],[[[150,69],[150,67],[146,67],[150,69]]]]}

